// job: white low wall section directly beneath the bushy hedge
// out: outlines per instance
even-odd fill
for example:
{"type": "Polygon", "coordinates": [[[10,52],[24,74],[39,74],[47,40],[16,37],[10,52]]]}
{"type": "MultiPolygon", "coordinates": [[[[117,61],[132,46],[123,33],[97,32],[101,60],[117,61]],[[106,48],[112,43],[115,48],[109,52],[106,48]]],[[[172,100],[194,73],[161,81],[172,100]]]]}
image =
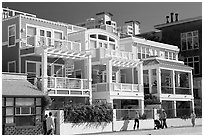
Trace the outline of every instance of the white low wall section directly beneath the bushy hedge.
{"type": "Polygon", "coordinates": [[[60,126],[60,135],[88,134],[101,132],[112,132],[112,123],[102,123],[101,126],[97,127],[94,125],[90,126],[87,124],[74,125],[73,123],[63,123],[60,126]]]}

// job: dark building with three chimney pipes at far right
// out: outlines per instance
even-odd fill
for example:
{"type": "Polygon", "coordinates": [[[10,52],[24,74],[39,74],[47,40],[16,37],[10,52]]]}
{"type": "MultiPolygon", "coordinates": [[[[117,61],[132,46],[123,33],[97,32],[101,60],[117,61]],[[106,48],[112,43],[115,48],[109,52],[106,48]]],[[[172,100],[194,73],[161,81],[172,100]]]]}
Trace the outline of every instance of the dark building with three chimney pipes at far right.
{"type": "Polygon", "coordinates": [[[193,67],[193,88],[196,106],[201,107],[202,98],[202,17],[179,20],[178,14],[171,13],[171,21],[155,25],[161,30],[162,43],[178,46],[179,59],[193,67]],[[175,18],[175,19],[174,19],[175,18]],[[200,101],[199,101],[200,100],[200,101]]]}

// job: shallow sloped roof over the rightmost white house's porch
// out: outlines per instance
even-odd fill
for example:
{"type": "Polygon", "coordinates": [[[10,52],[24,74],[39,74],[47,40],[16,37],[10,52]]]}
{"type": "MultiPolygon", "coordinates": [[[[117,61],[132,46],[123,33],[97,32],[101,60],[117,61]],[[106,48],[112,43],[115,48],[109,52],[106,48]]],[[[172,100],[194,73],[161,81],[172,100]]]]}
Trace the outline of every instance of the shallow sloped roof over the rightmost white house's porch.
{"type": "Polygon", "coordinates": [[[151,59],[145,59],[143,60],[143,65],[160,65],[162,67],[168,67],[168,68],[175,68],[175,69],[182,69],[182,70],[192,70],[192,67],[189,67],[187,65],[184,65],[183,63],[180,62],[175,62],[171,60],[163,60],[163,59],[158,59],[158,58],[151,58],[151,59]]]}

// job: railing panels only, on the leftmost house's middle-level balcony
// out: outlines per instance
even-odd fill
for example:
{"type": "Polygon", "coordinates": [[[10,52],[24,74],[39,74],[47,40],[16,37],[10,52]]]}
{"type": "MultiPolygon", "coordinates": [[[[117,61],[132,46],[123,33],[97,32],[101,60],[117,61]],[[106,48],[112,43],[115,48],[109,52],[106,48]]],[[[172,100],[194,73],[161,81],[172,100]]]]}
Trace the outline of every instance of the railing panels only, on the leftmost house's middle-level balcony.
{"type": "Polygon", "coordinates": [[[87,79],[48,77],[48,88],[52,89],[89,89],[87,79]]]}

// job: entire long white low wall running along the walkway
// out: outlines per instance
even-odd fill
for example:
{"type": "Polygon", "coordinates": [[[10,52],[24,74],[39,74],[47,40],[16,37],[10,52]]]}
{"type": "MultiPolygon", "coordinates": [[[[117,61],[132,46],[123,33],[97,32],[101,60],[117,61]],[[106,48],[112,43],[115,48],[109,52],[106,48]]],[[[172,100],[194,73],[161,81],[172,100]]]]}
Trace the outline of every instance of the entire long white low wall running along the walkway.
{"type": "MultiPolygon", "coordinates": [[[[57,135],[74,135],[74,134],[89,134],[89,133],[101,133],[101,132],[113,132],[113,131],[124,131],[124,130],[133,130],[134,120],[121,120],[114,121],[111,123],[102,123],[100,126],[96,126],[93,123],[88,125],[86,124],[73,124],[73,123],[64,123],[64,112],[62,110],[52,111],[53,116],[56,119],[56,130],[55,134],[57,135]]],[[[48,113],[48,111],[46,112],[48,113]]],[[[139,129],[154,129],[154,120],[146,119],[139,120],[140,127],[139,129]]],[[[196,125],[202,125],[202,118],[196,118],[196,125]]],[[[179,126],[192,126],[191,119],[180,119],[172,118],[167,119],[168,127],[179,127],[179,126]]]]}

